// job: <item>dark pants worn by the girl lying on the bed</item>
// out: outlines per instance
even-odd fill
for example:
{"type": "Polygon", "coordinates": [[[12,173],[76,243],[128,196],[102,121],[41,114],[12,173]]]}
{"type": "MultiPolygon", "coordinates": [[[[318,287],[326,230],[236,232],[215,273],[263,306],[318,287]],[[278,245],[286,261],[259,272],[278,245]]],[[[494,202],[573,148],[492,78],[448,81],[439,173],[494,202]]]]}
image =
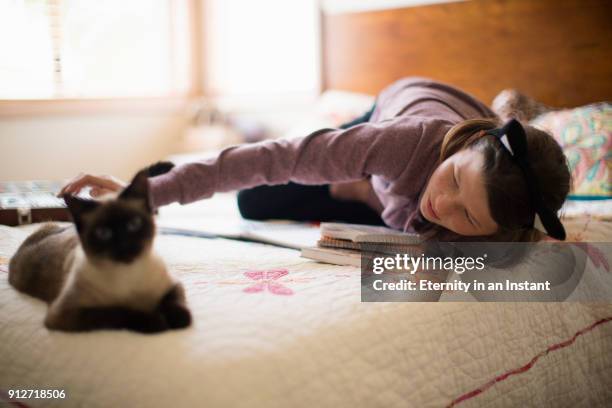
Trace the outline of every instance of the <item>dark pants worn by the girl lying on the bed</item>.
{"type": "MultiPolygon", "coordinates": [[[[340,128],[347,129],[368,122],[372,112],[374,107],[340,128]]],[[[241,190],[238,192],[238,209],[244,218],[251,220],[340,221],[384,225],[380,215],[368,205],[333,198],[329,193],[329,185],[289,183],[241,190]]]]}

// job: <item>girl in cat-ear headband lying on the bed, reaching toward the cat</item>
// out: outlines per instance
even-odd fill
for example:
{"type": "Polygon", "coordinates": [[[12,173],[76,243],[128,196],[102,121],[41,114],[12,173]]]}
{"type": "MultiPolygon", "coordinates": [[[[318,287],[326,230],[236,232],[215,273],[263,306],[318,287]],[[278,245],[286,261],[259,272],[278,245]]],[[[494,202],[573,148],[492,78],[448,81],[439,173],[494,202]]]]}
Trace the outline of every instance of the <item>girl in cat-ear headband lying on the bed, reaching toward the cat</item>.
{"type": "MultiPolygon", "coordinates": [[[[556,213],[570,173],[560,146],[517,121],[501,125],[457,88],[405,78],[340,129],[229,147],[153,177],[151,200],[184,204],[242,189],[246,218],[384,223],[440,240],[564,239],[556,213]]],[[[60,194],[124,185],[80,175],[60,194]]]]}

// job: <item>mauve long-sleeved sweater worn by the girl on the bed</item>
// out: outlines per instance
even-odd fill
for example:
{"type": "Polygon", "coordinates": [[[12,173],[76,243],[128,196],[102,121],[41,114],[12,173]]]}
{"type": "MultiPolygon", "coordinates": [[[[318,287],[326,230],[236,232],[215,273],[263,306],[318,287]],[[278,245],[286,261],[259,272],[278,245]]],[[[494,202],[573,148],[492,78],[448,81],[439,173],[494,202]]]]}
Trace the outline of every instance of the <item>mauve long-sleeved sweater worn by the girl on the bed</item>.
{"type": "Polygon", "coordinates": [[[459,89],[405,78],[378,95],[368,123],[229,147],[216,158],[152,178],[153,205],[186,204],[215,192],[263,184],[329,184],[371,176],[385,223],[414,231],[415,223],[423,220],[419,198],[438,164],[446,132],[463,120],[494,116],[459,89]]]}

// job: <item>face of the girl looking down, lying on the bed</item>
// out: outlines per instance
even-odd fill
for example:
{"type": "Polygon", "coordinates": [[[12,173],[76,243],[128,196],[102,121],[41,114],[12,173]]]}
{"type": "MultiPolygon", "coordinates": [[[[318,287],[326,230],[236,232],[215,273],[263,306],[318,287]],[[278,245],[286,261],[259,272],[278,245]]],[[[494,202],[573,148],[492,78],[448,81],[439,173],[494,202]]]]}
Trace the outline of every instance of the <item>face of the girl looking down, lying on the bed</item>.
{"type": "Polygon", "coordinates": [[[433,172],[419,208],[430,222],[459,235],[492,235],[497,223],[491,217],[482,173],[484,156],[464,149],[433,172]]]}

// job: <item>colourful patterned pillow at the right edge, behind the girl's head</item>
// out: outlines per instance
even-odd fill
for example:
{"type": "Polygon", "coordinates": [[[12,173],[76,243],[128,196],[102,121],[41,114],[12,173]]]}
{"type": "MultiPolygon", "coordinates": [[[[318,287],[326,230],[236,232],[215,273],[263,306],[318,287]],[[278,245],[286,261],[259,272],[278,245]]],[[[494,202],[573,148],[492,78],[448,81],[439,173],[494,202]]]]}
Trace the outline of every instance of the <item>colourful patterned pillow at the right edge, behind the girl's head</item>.
{"type": "Polygon", "coordinates": [[[612,198],[612,104],[544,113],[531,125],[551,133],[569,161],[570,198],[612,198]]]}

